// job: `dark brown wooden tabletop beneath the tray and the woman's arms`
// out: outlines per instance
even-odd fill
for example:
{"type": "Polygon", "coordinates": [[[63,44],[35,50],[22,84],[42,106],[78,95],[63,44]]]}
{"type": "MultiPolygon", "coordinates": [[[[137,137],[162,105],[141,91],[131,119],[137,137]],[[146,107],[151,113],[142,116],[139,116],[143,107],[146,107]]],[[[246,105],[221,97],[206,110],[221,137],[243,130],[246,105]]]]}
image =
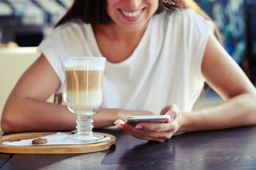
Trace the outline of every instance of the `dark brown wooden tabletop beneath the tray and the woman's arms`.
{"type": "Polygon", "coordinates": [[[138,140],[122,130],[110,149],[90,154],[1,154],[1,169],[256,169],[256,126],[191,132],[166,142],[138,140]]]}

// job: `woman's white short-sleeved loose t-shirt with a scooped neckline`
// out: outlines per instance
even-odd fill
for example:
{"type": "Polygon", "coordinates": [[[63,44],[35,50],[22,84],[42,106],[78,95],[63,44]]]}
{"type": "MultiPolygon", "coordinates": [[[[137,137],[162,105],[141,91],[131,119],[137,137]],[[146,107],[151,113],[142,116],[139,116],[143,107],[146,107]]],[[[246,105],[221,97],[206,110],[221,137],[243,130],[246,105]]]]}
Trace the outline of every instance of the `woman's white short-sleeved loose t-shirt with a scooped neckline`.
{"type": "MultiPolygon", "coordinates": [[[[103,108],[153,111],[175,103],[191,111],[203,89],[201,63],[213,23],[183,9],[153,16],[142,40],[123,62],[107,62],[103,108]]],[[[58,26],[38,46],[63,84],[63,58],[102,56],[90,24],[58,26]]]]}

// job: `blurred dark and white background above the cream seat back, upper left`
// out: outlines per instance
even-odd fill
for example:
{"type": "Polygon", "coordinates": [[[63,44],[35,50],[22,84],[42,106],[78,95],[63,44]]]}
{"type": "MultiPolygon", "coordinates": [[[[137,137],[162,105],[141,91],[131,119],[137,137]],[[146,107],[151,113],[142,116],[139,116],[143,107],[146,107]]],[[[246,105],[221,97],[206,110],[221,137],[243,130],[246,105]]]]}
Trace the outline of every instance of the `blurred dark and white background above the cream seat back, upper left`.
{"type": "Polygon", "coordinates": [[[35,47],[52,30],[72,0],[0,0],[0,42],[35,47]]]}

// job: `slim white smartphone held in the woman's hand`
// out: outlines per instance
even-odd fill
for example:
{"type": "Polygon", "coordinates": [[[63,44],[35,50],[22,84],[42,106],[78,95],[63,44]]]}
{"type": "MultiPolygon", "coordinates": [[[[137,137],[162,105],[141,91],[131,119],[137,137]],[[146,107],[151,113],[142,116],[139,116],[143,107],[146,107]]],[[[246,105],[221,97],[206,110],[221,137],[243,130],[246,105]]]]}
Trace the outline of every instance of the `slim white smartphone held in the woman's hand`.
{"type": "Polygon", "coordinates": [[[127,123],[137,124],[140,122],[164,123],[171,120],[170,115],[135,115],[127,118],[127,123]]]}

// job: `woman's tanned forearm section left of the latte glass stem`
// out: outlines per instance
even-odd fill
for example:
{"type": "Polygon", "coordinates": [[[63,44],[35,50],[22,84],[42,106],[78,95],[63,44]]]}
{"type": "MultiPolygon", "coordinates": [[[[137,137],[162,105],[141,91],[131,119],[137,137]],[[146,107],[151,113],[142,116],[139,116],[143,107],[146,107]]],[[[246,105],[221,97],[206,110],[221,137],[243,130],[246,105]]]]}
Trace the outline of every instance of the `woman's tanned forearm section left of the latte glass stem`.
{"type": "Polygon", "coordinates": [[[57,131],[75,128],[75,118],[66,106],[33,98],[7,101],[1,119],[5,132],[57,131]]]}

